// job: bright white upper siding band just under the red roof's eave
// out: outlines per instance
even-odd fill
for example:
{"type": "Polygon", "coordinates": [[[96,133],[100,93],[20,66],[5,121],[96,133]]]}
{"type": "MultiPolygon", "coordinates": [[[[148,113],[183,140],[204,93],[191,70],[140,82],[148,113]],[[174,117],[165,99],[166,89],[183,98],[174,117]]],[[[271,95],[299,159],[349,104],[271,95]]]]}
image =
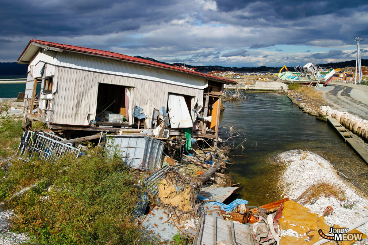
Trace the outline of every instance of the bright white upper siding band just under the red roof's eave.
{"type": "Polygon", "coordinates": [[[206,79],[188,75],[187,73],[166,71],[159,68],[135,65],[127,62],[118,62],[103,58],[89,57],[86,55],[61,52],[57,52],[56,60],[56,65],[69,68],[147,79],[186,87],[194,87],[197,89],[204,89],[207,86],[206,79]]]}

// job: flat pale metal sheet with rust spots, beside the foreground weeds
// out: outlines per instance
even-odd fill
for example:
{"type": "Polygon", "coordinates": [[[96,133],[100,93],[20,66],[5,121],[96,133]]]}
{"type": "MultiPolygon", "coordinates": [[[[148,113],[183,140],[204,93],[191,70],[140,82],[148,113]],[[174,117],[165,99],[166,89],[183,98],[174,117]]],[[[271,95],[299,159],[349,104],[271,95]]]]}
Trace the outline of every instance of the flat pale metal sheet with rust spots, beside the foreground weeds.
{"type": "Polygon", "coordinates": [[[141,226],[148,233],[157,235],[161,241],[171,241],[173,236],[178,233],[178,228],[173,224],[173,221],[168,219],[168,213],[156,206],[142,221],[141,226]]]}

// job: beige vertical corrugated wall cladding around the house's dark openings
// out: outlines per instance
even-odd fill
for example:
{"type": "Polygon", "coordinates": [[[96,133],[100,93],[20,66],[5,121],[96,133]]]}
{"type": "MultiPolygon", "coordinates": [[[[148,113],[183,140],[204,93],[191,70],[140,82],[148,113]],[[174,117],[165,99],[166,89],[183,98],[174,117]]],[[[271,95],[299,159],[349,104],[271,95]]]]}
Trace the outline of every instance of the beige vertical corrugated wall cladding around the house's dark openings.
{"type": "MultiPolygon", "coordinates": [[[[143,67],[142,69],[151,68],[143,67]]],[[[199,106],[203,104],[203,90],[193,87],[65,67],[57,67],[55,74],[57,76],[57,91],[53,123],[88,125],[90,120],[96,116],[98,83],[134,87],[133,104],[130,105],[130,108],[134,108],[136,105],[142,107],[148,116],[147,125],[151,125],[153,108],[166,107],[169,93],[193,96],[196,99],[199,98],[199,106]]],[[[192,83],[199,83],[196,78],[192,77],[192,79],[192,83]]]]}

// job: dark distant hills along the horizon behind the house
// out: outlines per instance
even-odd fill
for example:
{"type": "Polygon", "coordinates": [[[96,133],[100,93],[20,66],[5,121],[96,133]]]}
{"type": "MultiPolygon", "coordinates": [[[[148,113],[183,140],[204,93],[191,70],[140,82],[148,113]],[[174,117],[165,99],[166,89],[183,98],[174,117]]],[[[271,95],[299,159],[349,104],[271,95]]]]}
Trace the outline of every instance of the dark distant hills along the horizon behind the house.
{"type": "MultiPolygon", "coordinates": [[[[159,62],[166,65],[185,65],[189,68],[195,68],[199,72],[207,73],[210,71],[234,71],[234,72],[279,72],[280,67],[269,67],[269,66],[259,66],[259,67],[229,67],[229,66],[219,66],[219,65],[205,65],[205,66],[192,66],[184,63],[174,63],[169,64],[161,62],[149,57],[135,56],[137,58],[142,58],[149,61],[159,62]]],[[[368,59],[361,60],[362,66],[368,66],[368,59]]],[[[304,64],[303,64],[304,65],[304,64]]],[[[355,60],[320,64],[322,67],[332,67],[332,68],[343,68],[343,67],[355,67],[355,60]]],[[[292,70],[293,67],[288,67],[292,70]]],[[[10,78],[25,78],[27,74],[27,66],[17,64],[17,62],[0,62],[0,79],[10,79],[10,78]]]]}

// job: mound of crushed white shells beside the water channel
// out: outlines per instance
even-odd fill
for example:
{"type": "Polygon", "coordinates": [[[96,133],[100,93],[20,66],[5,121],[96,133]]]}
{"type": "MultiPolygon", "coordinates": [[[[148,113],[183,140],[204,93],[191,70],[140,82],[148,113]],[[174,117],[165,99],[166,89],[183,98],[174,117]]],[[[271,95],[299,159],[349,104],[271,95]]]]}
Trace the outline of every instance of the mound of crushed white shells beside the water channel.
{"type": "MultiPolygon", "coordinates": [[[[296,199],[312,184],[319,182],[340,186],[345,191],[345,201],[333,196],[322,196],[318,200],[313,200],[313,203],[303,205],[319,216],[323,215],[327,206],[331,206],[333,213],[325,217],[329,225],[347,227],[368,217],[368,199],[362,197],[351,183],[339,176],[326,159],[312,152],[293,150],[281,153],[277,156],[277,160],[279,164],[287,165],[280,179],[280,187],[283,188],[284,195],[290,199],[296,199]]],[[[368,223],[358,227],[357,230],[368,235],[368,223]]],[[[289,235],[287,231],[282,231],[282,234],[289,235]]],[[[367,242],[368,238],[356,244],[368,244],[367,242]]]]}

